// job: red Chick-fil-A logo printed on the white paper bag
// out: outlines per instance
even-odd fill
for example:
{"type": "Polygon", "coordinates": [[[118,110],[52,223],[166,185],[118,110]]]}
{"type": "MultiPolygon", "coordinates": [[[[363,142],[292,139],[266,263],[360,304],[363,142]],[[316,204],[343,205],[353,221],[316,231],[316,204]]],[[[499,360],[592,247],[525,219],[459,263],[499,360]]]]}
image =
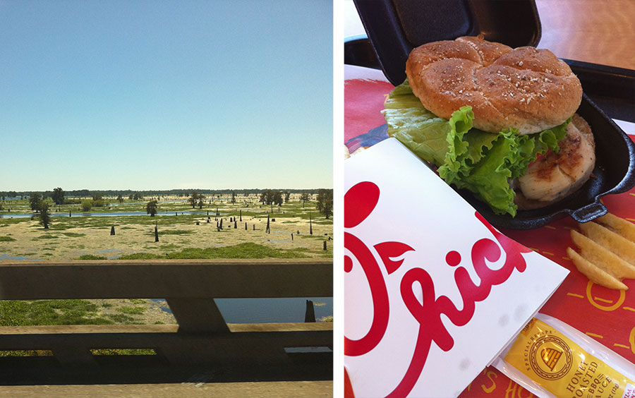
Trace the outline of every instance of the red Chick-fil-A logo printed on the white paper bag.
{"type": "MultiPolygon", "coordinates": [[[[344,195],[344,228],[349,229],[361,224],[373,212],[379,198],[380,188],[370,181],[358,183],[350,188],[344,195]]],[[[474,315],[475,303],[485,300],[492,286],[507,281],[514,269],[523,272],[526,268],[521,253],[529,253],[531,250],[500,234],[478,212],[474,215],[490,230],[502,247],[506,255],[505,263],[500,269],[491,270],[485,260],[490,262],[499,260],[502,254],[500,247],[492,239],[483,238],[476,241],[471,248],[471,263],[480,277],[480,284],[476,285],[467,270],[458,266],[461,263],[461,255],[456,251],[447,253],[445,257],[447,265],[456,267],[454,281],[463,298],[461,310],[458,310],[447,296],[435,298],[435,284],[425,269],[413,267],[404,274],[400,282],[401,299],[418,322],[419,330],[409,367],[399,385],[387,397],[406,397],[411,392],[423,371],[433,342],[443,351],[449,351],[454,346],[454,339],[441,322],[442,314],[456,326],[466,325],[474,315]],[[423,289],[423,301],[419,301],[413,293],[413,284],[416,283],[421,284],[423,289]]],[[[368,332],[361,339],[356,340],[344,336],[344,354],[361,356],[373,350],[384,337],[390,316],[389,298],[382,270],[373,251],[361,239],[348,231],[344,231],[344,248],[362,267],[373,300],[373,320],[368,332]]],[[[391,275],[404,262],[403,258],[392,260],[393,258],[399,258],[408,251],[414,251],[406,243],[396,241],[377,243],[373,248],[386,268],[387,275],[391,275]]],[[[344,272],[351,272],[351,270],[353,270],[353,258],[344,255],[344,272]]]]}

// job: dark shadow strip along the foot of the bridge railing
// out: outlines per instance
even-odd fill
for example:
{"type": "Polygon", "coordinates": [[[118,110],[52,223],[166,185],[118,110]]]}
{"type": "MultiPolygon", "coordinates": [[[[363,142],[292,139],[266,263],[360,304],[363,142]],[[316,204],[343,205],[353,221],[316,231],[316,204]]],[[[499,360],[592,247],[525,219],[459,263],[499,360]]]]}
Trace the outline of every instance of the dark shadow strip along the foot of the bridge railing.
{"type": "Polygon", "coordinates": [[[52,356],[0,358],[0,385],[105,385],[333,379],[332,352],[290,354],[284,365],[171,366],[161,356],[97,356],[98,366],[60,366],[52,356]]]}

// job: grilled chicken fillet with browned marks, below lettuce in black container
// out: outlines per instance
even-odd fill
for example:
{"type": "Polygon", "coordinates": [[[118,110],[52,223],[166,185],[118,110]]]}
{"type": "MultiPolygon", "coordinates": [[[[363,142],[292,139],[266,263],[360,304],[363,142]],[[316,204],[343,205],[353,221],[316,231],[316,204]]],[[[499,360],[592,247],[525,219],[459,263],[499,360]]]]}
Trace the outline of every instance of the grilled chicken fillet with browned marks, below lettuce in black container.
{"type": "Polygon", "coordinates": [[[551,205],[577,191],[595,167],[595,140],[588,123],[574,114],[560,151],[548,151],[517,181],[514,202],[520,210],[551,205]]]}

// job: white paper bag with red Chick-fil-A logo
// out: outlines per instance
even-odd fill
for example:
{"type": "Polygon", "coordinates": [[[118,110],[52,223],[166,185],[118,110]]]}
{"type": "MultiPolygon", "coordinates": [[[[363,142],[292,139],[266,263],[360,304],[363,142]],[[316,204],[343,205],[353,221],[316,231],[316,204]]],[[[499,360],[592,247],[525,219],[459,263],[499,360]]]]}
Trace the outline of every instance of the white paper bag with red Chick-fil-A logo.
{"type": "Polygon", "coordinates": [[[456,397],[568,270],[496,231],[393,138],[344,170],[344,366],[353,392],[456,397]]]}

